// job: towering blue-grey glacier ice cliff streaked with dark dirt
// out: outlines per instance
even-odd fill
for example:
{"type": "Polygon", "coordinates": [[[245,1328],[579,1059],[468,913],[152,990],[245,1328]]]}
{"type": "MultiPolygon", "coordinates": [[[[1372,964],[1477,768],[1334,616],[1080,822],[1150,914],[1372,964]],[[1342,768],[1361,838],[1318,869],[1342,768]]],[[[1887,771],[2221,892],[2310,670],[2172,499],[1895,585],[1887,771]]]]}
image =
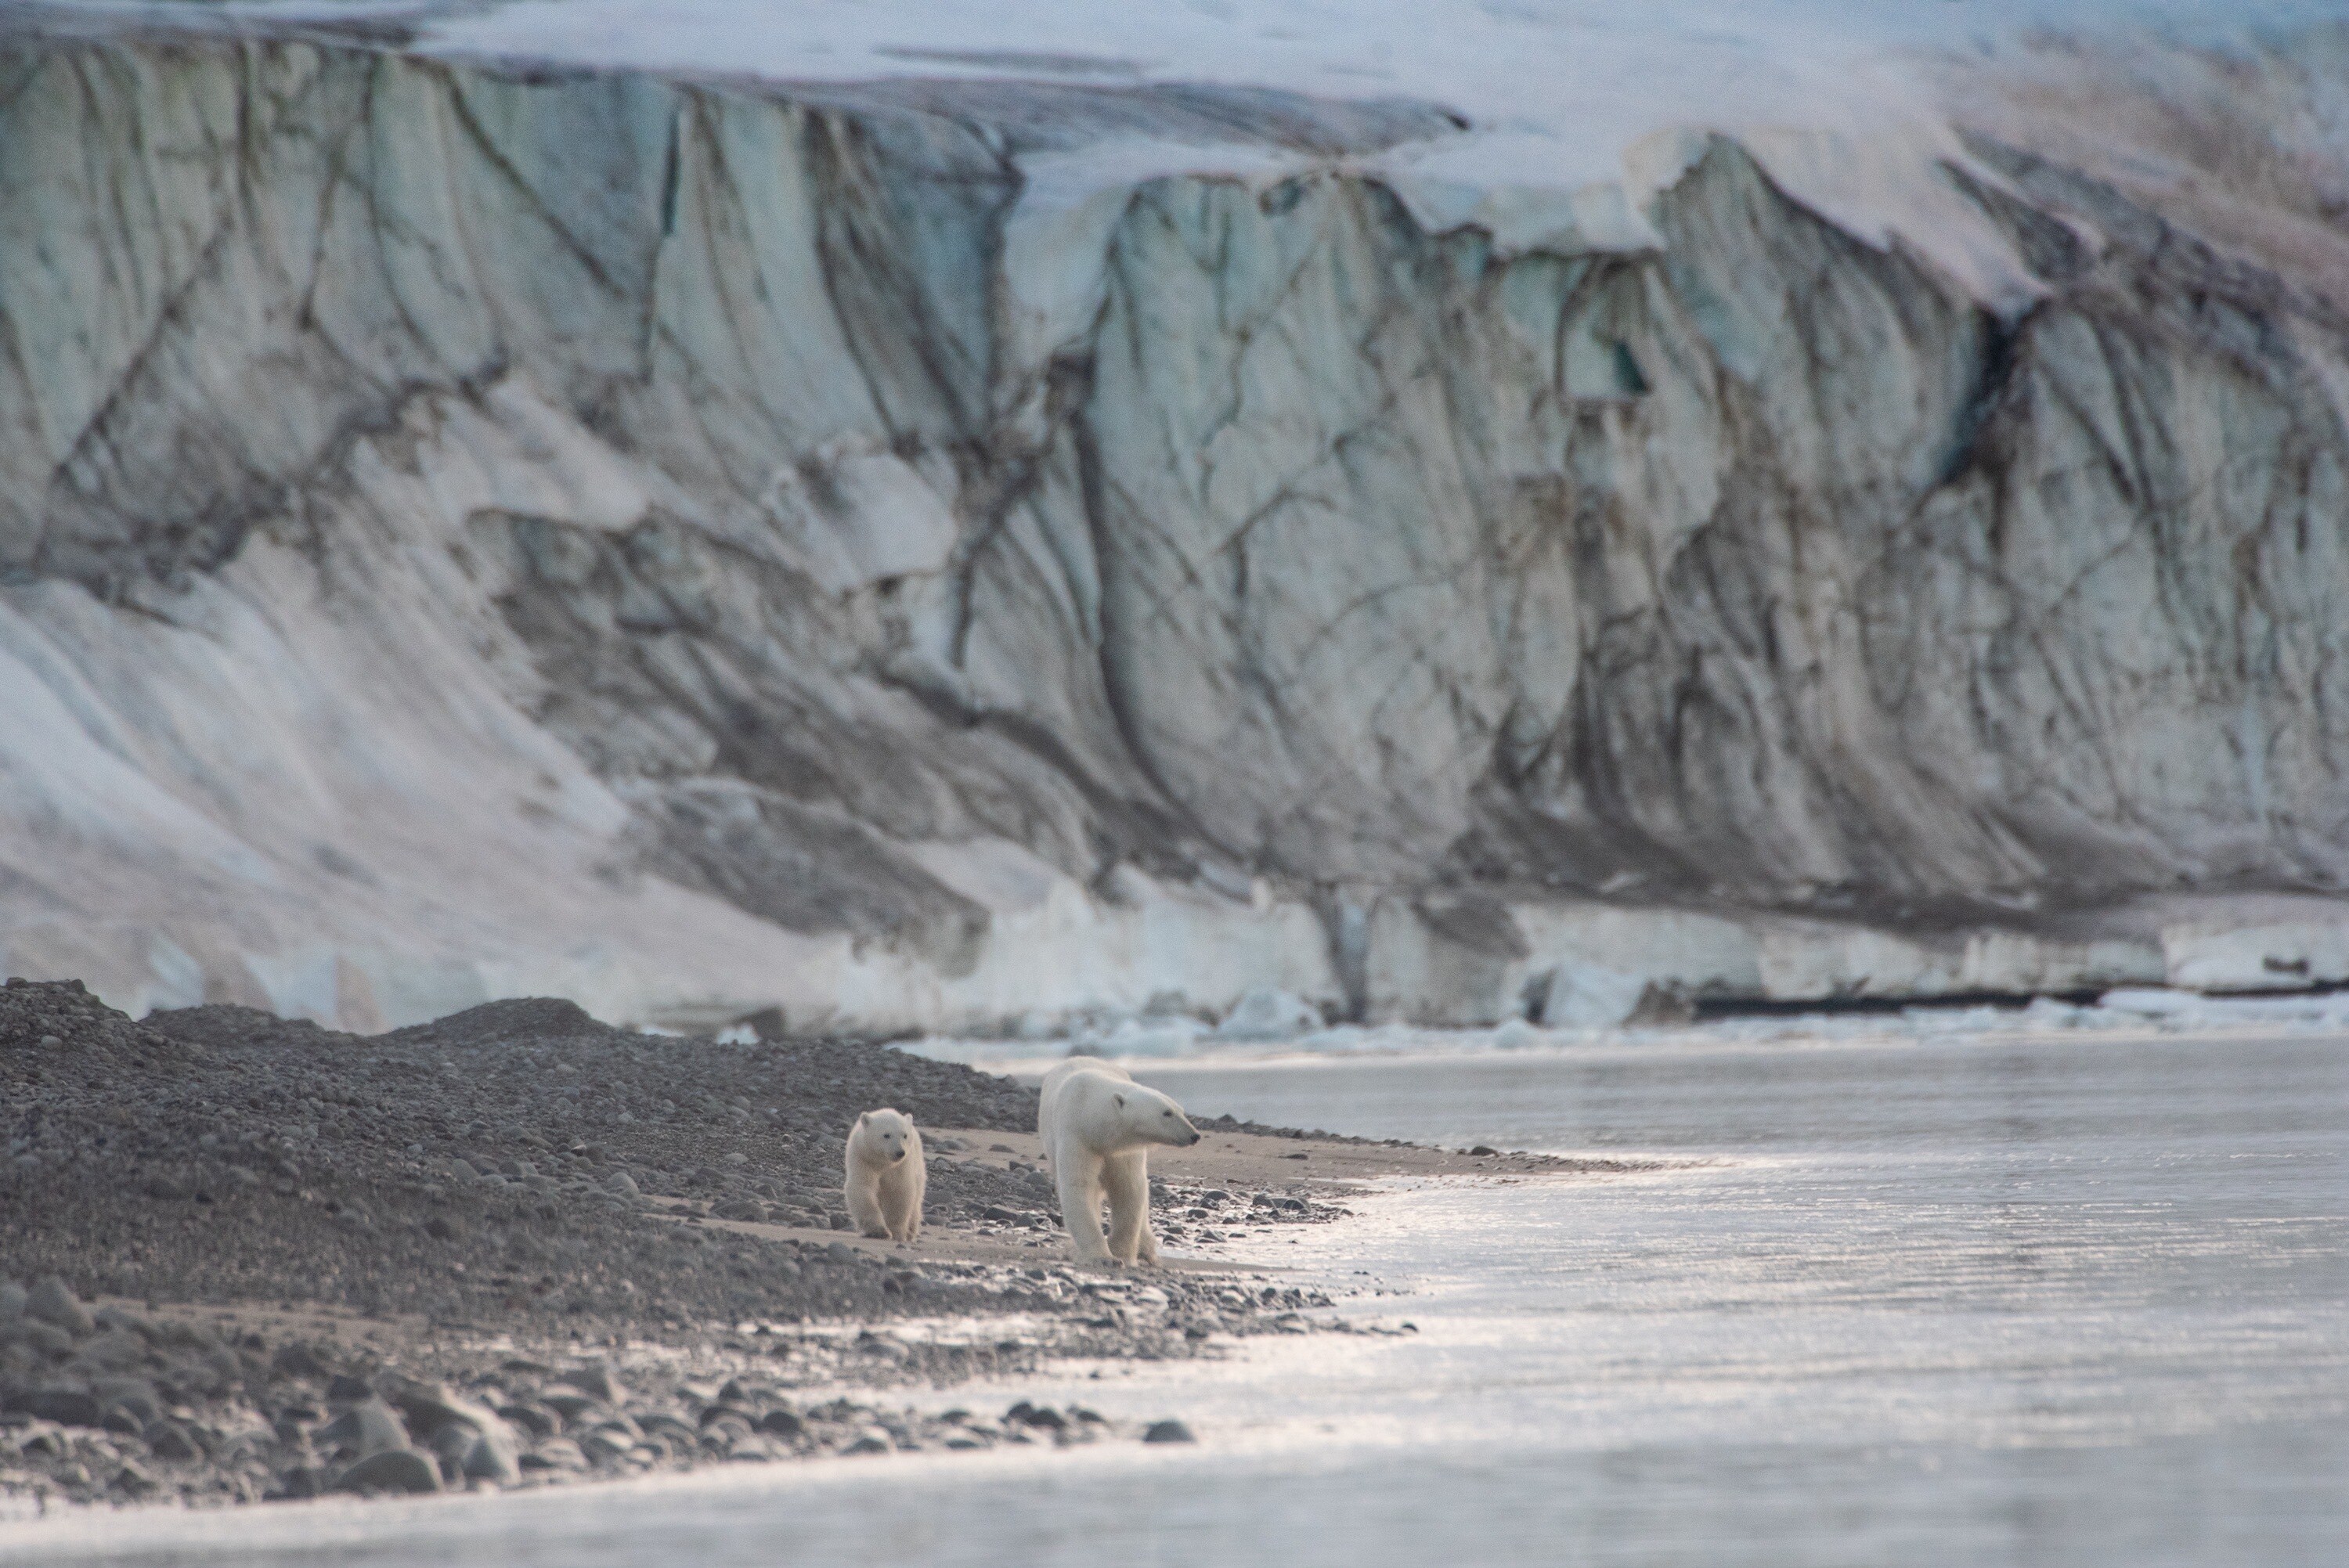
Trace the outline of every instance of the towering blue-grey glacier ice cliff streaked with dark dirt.
{"type": "Polygon", "coordinates": [[[2349,974],[2337,33],[1950,66],[1943,218],[1867,232],[1762,134],[1510,228],[1412,99],[59,16],[0,49],[9,969],[2349,974]]]}

